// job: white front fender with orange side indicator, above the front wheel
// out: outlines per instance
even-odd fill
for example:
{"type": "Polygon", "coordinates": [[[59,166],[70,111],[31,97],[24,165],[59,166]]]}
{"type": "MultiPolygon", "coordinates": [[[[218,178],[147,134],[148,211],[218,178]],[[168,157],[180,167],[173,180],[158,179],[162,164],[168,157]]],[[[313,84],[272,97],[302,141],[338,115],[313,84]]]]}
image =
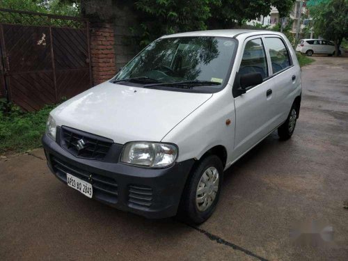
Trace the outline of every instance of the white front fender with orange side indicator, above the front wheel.
{"type": "Polygon", "coordinates": [[[216,145],[223,145],[231,152],[234,140],[235,104],[232,86],[228,84],[177,124],[161,142],[175,142],[180,148],[177,161],[184,161],[200,159],[216,145]],[[226,124],[226,120],[230,120],[230,124],[226,124]]]}

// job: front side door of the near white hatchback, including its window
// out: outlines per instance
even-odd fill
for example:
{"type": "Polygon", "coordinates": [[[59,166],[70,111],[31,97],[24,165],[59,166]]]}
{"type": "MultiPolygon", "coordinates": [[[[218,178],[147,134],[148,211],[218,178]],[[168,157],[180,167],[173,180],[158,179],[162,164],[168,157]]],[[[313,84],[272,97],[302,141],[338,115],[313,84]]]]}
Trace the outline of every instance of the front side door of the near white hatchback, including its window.
{"type": "MultiPolygon", "coordinates": [[[[238,76],[259,72],[264,79],[258,86],[246,89],[246,93],[235,97],[235,149],[233,157],[239,157],[272,129],[273,94],[269,81],[269,65],[261,36],[247,38],[244,53],[239,63],[238,76]]],[[[237,77],[239,79],[239,77],[237,77]]],[[[235,84],[234,88],[236,88],[235,84]]]]}

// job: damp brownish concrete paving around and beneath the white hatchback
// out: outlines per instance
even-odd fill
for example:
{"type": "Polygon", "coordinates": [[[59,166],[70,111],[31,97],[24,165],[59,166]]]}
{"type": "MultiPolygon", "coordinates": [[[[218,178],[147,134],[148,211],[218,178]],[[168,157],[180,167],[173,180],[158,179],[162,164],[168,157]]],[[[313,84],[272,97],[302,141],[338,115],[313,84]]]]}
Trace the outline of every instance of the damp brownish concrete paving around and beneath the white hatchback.
{"type": "Polygon", "coordinates": [[[41,150],[1,159],[0,260],[347,260],[348,59],[315,60],[293,138],[271,134],[232,166],[198,228],[89,200],[49,173],[41,150]],[[333,242],[292,242],[304,221],[332,226],[333,242]]]}

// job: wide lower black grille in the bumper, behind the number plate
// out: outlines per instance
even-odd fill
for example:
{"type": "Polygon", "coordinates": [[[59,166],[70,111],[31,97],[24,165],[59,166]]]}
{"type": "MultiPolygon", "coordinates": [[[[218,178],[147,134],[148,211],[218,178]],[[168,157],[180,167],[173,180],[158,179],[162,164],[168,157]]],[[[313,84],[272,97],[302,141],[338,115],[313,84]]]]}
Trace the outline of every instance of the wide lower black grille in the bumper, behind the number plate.
{"type": "Polygon", "coordinates": [[[102,198],[112,204],[117,203],[118,184],[113,178],[84,171],[56,157],[51,157],[51,162],[54,172],[61,180],[66,182],[66,174],[69,173],[92,184],[93,198],[102,198]]]}

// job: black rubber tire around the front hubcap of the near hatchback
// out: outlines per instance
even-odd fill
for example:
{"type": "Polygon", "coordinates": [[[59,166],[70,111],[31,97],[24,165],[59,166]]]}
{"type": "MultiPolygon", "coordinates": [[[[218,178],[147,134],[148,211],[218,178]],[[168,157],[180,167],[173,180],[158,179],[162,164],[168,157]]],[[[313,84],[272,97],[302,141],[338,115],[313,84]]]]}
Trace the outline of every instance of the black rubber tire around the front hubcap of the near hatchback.
{"type": "Polygon", "coordinates": [[[223,165],[219,157],[215,155],[209,155],[202,159],[198,166],[193,170],[190,180],[187,182],[187,186],[185,187],[185,191],[182,195],[184,197],[182,198],[182,211],[184,212],[182,214],[186,216],[185,221],[189,223],[200,224],[209,219],[210,216],[212,216],[216,205],[219,202],[222,182],[223,165]],[[212,166],[214,166],[214,168],[216,168],[219,172],[219,190],[216,193],[216,197],[212,205],[204,212],[200,212],[196,206],[196,190],[198,187],[198,182],[200,181],[200,177],[202,177],[207,168],[212,166]]]}

